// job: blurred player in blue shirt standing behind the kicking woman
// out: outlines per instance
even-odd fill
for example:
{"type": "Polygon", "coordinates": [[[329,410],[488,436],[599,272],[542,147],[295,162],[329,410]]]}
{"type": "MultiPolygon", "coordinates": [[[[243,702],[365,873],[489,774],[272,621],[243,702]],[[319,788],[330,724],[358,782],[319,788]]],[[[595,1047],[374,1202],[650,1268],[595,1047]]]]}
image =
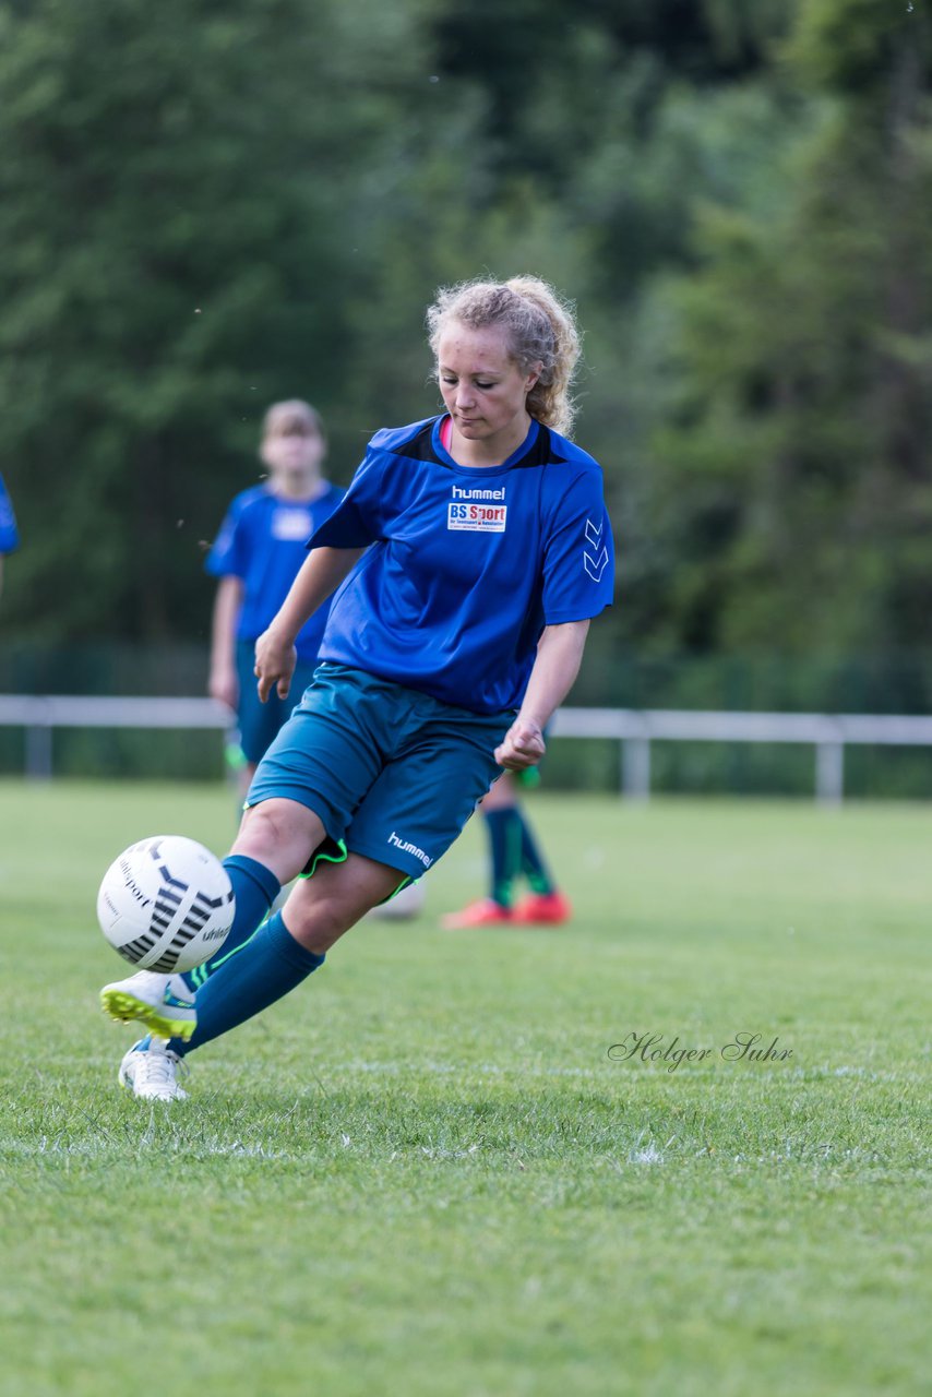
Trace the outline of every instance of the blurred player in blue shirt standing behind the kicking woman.
{"type": "Polygon", "coordinates": [[[268,408],[259,454],[268,478],[233,499],[207,556],[207,571],[219,578],[207,687],[212,698],[236,714],[232,756],[243,795],[265,749],[312,680],[328,608],[321,606],[298,636],[291,700],[272,693],[268,703],[259,701],[256,640],[288,595],[307,556],[307,539],[342,499],[342,490],[321,475],[327,439],[309,402],[291,398],[268,408]]]}

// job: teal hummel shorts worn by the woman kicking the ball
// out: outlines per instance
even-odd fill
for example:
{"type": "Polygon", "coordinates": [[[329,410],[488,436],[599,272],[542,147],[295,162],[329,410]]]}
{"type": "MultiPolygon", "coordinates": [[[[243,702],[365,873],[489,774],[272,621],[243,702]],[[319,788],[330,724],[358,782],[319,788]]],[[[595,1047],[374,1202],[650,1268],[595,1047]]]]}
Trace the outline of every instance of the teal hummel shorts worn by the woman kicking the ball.
{"type": "Polygon", "coordinates": [[[421,877],[502,775],[493,753],[513,722],[324,661],[246,805],[298,800],[334,844],[421,877]]]}

